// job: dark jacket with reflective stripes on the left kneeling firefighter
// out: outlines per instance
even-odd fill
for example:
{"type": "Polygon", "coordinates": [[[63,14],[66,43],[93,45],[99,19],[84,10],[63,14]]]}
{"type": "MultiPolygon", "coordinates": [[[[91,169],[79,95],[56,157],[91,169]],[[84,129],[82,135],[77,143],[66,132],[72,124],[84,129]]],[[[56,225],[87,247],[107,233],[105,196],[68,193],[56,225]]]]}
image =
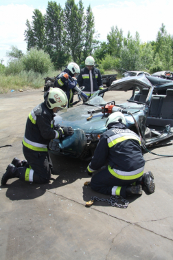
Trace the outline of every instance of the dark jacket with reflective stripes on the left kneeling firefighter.
{"type": "Polygon", "coordinates": [[[51,139],[58,138],[54,130],[54,113],[45,102],[34,107],[27,118],[23,145],[34,151],[47,151],[51,139]]]}

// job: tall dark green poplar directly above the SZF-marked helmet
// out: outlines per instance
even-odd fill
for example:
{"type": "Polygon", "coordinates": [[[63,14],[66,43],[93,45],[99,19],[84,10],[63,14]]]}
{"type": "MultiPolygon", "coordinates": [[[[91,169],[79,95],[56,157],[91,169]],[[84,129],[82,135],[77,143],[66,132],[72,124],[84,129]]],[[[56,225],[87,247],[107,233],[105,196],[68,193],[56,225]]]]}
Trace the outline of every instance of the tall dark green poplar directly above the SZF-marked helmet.
{"type": "Polygon", "coordinates": [[[61,69],[69,61],[69,49],[66,44],[67,32],[64,30],[64,14],[56,2],[48,1],[45,14],[46,50],[56,69],[61,69]]]}

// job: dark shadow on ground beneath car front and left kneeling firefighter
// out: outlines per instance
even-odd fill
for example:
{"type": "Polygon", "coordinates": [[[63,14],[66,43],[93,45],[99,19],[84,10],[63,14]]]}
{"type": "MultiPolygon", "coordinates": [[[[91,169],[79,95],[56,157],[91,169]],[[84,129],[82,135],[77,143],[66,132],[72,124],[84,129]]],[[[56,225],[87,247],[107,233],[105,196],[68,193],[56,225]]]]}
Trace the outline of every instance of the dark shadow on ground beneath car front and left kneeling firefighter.
{"type": "Polygon", "coordinates": [[[51,181],[48,184],[36,184],[15,180],[12,184],[1,186],[1,188],[8,188],[6,196],[11,200],[34,199],[42,196],[46,190],[59,188],[88,176],[86,169],[89,162],[83,162],[73,158],[61,158],[56,155],[51,155],[51,160],[54,170],[51,175],[51,181]]]}

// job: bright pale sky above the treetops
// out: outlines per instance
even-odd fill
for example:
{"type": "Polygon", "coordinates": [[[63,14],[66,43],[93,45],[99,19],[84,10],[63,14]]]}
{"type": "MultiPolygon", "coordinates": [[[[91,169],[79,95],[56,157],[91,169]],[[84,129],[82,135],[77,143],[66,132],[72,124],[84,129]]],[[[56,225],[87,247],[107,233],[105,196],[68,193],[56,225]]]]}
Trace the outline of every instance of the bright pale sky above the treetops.
{"type": "MultiPolygon", "coordinates": [[[[56,1],[62,8],[66,0],[56,1]]],[[[78,3],[78,0],[75,0],[78,3]]],[[[164,23],[167,32],[173,35],[172,0],[82,0],[84,8],[91,5],[95,17],[95,30],[100,41],[106,41],[111,27],[122,29],[124,36],[128,31],[132,36],[139,32],[141,42],[155,41],[157,32],[164,23]]],[[[47,0],[0,0],[0,60],[8,63],[6,52],[12,45],[24,53],[27,43],[24,41],[25,23],[32,21],[34,9],[46,12],[47,0]]]]}

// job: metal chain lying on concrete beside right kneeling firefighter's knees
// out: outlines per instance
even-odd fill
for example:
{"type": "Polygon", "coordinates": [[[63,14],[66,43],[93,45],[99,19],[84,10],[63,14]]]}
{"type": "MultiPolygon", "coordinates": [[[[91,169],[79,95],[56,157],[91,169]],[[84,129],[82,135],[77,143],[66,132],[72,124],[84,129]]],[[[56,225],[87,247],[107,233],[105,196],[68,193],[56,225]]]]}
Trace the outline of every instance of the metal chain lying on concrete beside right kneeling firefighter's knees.
{"type": "Polygon", "coordinates": [[[99,197],[93,196],[91,197],[91,200],[94,200],[96,202],[108,202],[108,204],[111,204],[113,207],[117,208],[127,208],[128,207],[128,200],[124,199],[122,196],[112,195],[109,199],[100,199],[99,197]],[[118,199],[121,199],[122,202],[124,202],[124,205],[117,204],[118,199]]]}

